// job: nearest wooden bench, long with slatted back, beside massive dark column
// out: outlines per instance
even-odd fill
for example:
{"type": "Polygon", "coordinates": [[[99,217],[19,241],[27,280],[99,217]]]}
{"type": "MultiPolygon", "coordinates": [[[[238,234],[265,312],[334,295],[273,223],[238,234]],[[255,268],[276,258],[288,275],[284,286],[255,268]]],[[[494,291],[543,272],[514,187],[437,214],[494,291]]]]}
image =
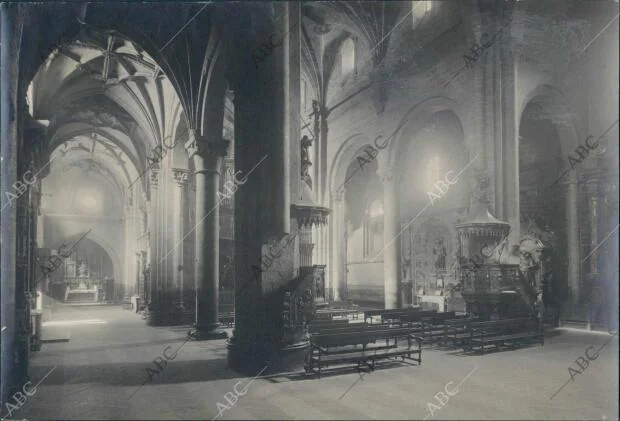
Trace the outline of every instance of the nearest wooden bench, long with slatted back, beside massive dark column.
{"type": "Polygon", "coordinates": [[[345,333],[314,334],[310,337],[304,369],[306,373],[318,374],[320,378],[322,367],[335,364],[355,363],[357,367],[365,364],[374,370],[377,360],[391,357],[422,364],[421,345],[421,339],[408,328],[364,327],[345,333]],[[385,340],[385,345],[377,343],[382,340],[385,340]]]}

